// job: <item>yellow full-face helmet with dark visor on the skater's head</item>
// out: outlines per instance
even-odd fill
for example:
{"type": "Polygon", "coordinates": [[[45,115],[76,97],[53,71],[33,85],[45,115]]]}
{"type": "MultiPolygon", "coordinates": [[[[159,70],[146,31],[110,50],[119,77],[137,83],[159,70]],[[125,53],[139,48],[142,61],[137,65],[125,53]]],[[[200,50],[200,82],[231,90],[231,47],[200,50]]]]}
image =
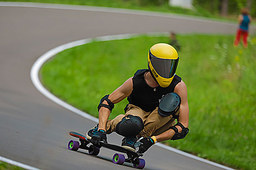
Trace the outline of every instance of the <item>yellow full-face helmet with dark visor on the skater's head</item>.
{"type": "Polygon", "coordinates": [[[179,56],[176,49],[167,43],[157,43],[149,49],[149,72],[161,87],[170,85],[178,62],[179,56]]]}

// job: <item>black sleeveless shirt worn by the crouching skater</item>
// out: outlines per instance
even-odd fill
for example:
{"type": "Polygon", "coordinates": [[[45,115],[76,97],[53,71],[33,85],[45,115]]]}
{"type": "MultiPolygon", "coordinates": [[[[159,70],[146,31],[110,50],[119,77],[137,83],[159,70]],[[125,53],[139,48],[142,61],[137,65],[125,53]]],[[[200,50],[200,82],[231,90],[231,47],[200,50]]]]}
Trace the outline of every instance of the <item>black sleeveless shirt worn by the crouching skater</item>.
{"type": "Polygon", "coordinates": [[[129,104],[136,105],[146,112],[155,110],[156,107],[159,106],[159,99],[161,99],[163,95],[173,92],[174,87],[181,81],[181,78],[175,74],[172,83],[170,83],[168,87],[150,87],[144,79],[144,74],[148,71],[148,69],[136,71],[132,78],[132,93],[127,97],[129,104]]]}

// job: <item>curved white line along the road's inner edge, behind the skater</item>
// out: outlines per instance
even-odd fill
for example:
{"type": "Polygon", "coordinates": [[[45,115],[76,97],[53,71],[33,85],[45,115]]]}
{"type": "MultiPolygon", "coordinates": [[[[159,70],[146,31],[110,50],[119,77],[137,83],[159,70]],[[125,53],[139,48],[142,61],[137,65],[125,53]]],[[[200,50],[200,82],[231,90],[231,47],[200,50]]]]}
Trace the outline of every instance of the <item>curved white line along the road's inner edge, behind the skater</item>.
{"type": "MultiPolygon", "coordinates": [[[[160,36],[160,35],[168,35],[168,33],[149,33],[149,36],[160,36]]],[[[86,112],[83,112],[77,108],[74,108],[73,106],[69,105],[68,103],[63,102],[62,100],[60,100],[59,98],[57,98],[56,96],[52,95],[52,93],[50,93],[49,91],[47,91],[45,89],[44,86],[42,86],[40,80],[39,80],[39,70],[41,68],[41,66],[44,64],[44,62],[50,58],[52,58],[54,55],[56,55],[59,52],[64,51],[65,49],[68,48],[72,48],[72,47],[76,47],[76,46],[80,46],[80,45],[84,45],[86,43],[90,43],[93,40],[94,41],[109,41],[109,40],[120,40],[120,39],[129,39],[131,37],[135,37],[137,36],[137,34],[123,34],[123,35],[109,35],[109,36],[101,36],[101,37],[96,37],[95,39],[84,39],[84,40],[78,40],[78,41],[74,41],[74,42],[70,42],[70,43],[66,43],[64,45],[58,46],[56,48],[51,49],[50,51],[46,52],[45,54],[43,54],[42,56],[40,56],[40,58],[38,60],[35,61],[34,65],[32,66],[31,69],[31,80],[34,84],[34,86],[36,87],[36,89],[38,89],[38,91],[40,91],[44,96],[46,96],[47,98],[51,99],[53,102],[63,106],[64,108],[75,112],[75,114],[78,114],[80,116],[83,116],[85,118],[88,118],[94,122],[98,122],[98,119],[90,116],[89,114],[87,114],[86,112]]],[[[156,143],[157,146],[170,150],[172,152],[178,153],[180,155],[184,155],[187,156],[189,158],[198,160],[198,161],[202,161],[204,163],[208,163],[210,165],[219,167],[219,168],[223,168],[223,169],[227,169],[227,170],[234,170],[232,168],[220,165],[218,163],[212,162],[212,161],[208,161],[205,160],[203,158],[199,158],[198,156],[194,156],[185,152],[182,152],[181,150],[166,146],[162,143],[156,143]]]]}

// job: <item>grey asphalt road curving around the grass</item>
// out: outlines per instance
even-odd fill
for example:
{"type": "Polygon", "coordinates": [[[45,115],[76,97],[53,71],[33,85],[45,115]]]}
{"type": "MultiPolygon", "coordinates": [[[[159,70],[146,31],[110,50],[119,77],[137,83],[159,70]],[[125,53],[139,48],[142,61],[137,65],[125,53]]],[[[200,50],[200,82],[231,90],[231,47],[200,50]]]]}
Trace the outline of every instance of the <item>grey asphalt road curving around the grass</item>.
{"type": "MultiPolygon", "coordinates": [[[[101,149],[97,157],[67,149],[69,131],[85,133],[95,123],[35,89],[29,72],[39,56],[64,43],[102,35],[236,30],[235,24],[170,15],[27,7],[0,7],[0,23],[0,156],[40,169],[131,169],[131,165],[114,165],[114,152],[108,149],[101,149]]],[[[109,135],[108,141],[120,144],[121,137],[109,135]]],[[[221,169],[157,146],[144,159],[145,169],[221,169]]]]}

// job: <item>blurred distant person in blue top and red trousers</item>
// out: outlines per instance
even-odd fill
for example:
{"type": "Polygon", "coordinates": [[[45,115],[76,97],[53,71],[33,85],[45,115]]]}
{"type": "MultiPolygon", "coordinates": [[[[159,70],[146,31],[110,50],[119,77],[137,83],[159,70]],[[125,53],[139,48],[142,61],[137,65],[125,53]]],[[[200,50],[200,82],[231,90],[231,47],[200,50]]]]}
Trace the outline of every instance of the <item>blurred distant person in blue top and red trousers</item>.
{"type": "Polygon", "coordinates": [[[249,10],[247,8],[241,9],[241,15],[238,17],[239,28],[237,29],[234,46],[238,46],[240,42],[241,35],[243,36],[243,46],[247,48],[247,38],[248,38],[248,26],[251,22],[252,17],[249,15],[249,10]]]}

